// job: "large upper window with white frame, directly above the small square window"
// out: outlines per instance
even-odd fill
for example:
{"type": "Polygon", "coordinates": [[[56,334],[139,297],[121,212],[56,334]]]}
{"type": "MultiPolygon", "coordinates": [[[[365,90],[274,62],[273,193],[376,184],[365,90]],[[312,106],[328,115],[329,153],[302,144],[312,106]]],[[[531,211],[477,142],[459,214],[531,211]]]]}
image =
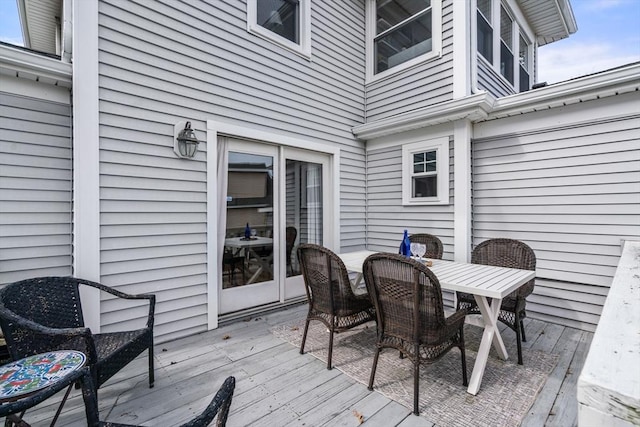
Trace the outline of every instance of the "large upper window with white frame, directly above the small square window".
{"type": "Polygon", "coordinates": [[[440,0],[368,0],[370,78],[406,69],[440,54],[440,0]]]}

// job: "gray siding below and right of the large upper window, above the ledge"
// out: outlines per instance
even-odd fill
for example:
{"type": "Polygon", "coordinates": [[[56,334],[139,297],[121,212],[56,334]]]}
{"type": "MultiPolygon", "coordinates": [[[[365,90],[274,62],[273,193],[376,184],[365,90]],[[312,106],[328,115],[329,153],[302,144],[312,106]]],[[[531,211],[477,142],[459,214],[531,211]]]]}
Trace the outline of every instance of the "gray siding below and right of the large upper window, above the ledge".
{"type": "Polygon", "coordinates": [[[374,122],[453,99],[453,2],[442,5],[442,55],[367,85],[366,117],[374,122]]]}

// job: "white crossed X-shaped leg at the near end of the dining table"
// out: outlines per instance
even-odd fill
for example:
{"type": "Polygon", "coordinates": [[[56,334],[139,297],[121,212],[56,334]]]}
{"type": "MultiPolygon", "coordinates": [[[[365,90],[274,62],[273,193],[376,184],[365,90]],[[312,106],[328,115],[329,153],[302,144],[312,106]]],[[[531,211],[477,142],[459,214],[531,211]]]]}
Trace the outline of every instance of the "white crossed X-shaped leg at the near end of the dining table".
{"type": "Polygon", "coordinates": [[[476,357],[476,363],[473,365],[473,372],[471,373],[469,387],[467,388],[468,393],[476,395],[480,389],[484,369],[487,366],[491,344],[493,343],[500,358],[506,360],[509,356],[502,337],[500,336],[500,330],[498,329],[498,314],[500,314],[502,300],[493,299],[491,304],[489,304],[489,300],[486,297],[474,295],[474,298],[478,304],[480,313],[482,313],[482,320],[484,321],[484,331],[482,332],[478,356],[476,357]]]}

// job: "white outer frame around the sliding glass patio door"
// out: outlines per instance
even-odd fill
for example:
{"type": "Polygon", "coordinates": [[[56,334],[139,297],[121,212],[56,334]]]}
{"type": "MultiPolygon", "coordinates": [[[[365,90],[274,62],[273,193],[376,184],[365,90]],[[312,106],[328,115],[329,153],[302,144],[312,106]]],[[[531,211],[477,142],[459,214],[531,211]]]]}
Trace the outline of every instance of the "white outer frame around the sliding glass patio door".
{"type": "MultiPolygon", "coordinates": [[[[220,300],[218,294],[218,136],[224,135],[232,138],[252,139],[276,145],[313,150],[332,156],[330,162],[330,176],[333,183],[333,200],[331,206],[325,210],[331,212],[334,226],[330,239],[325,246],[335,249],[340,243],[340,148],[320,143],[313,140],[291,137],[274,132],[251,129],[246,126],[238,126],[217,120],[207,120],[207,318],[208,328],[218,327],[218,315],[220,312],[220,300]]],[[[284,292],[281,293],[283,298],[284,292]]]]}

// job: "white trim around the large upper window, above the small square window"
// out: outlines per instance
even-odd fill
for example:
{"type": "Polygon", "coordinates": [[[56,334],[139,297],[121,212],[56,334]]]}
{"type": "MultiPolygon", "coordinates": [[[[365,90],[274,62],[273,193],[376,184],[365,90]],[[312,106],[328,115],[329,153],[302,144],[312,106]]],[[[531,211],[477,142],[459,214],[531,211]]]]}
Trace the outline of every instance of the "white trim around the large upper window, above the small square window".
{"type": "Polygon", "coordinates": [[[431,52],[417,56],[407,62],[398,64],[381,73],[374,74],[373,69],[373,39],[376,36],[376,0],[367,0],[366,3],[366,60],[367,74],[365,83],[372,83],[382,80],[394,74],[398,74],[404,70],[415,67],[419,64],[427,62],[433,58],[439,58],[442,55],[442,0],[431,0],[431,17],[432,22],[432,38],[431,52]]]}

